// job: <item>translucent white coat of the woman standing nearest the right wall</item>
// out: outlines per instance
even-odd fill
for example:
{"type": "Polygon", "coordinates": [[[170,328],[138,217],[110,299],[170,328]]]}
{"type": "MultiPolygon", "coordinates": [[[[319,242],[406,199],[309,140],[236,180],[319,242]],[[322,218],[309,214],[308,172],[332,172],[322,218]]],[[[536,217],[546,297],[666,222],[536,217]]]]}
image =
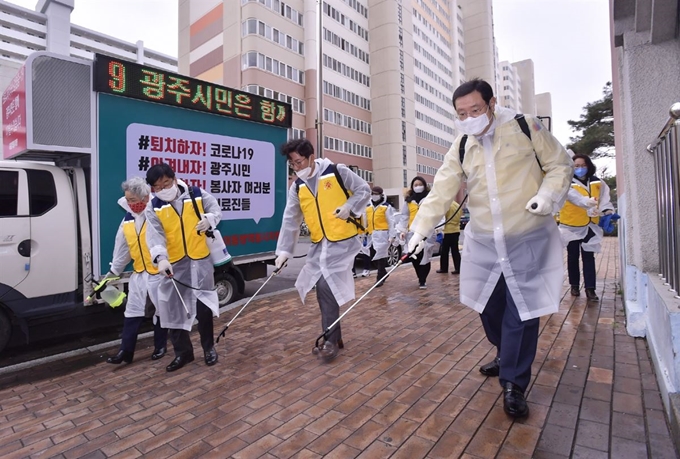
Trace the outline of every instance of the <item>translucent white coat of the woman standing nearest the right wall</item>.
{"type": "MultiPolygon", "coordinates": [[[[571,182],[576,186],[583,188],[584,190],[590,191],[589,186],[584,185],[583,182],[581,182],[576,177],[574,177],[571,182]]],[[[602,216],[604,215],[604,212],[608,210],[611,210],[612,212],[614,211],[614,206],[612,205],[611,199],[609,197],[609,186],[604,182],[604,180],[600,180],[600,195],[593,197],[597,198],[597,206],[589,208],[586,205],[588,197],[583,196],[578,191],[570,188],[569,193],[567,194],[567,201],[571,202],[575,206],[587,209],[589,217],[602,216]]],[[[602,237],[604,236],[604,230],[593,222],[588,223],[586,226],[567,226],[560,223],[560,235],[562,236],[562,244],[564,247],[566,247],[571,241],[579,241],[584,239],[588,235],[589,228],[593,230],[595,236],[590,238],[588,242],[581,243],[581,248],[586,252],[600,253],[602,250],[602,237]]]]}

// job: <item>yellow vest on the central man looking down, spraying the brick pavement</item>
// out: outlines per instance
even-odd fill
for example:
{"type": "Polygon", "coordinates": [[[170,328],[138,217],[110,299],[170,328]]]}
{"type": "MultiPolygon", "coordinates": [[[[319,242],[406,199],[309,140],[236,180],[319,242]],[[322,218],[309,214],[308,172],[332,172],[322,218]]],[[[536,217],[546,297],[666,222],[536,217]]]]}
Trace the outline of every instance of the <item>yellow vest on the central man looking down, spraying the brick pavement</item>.
{"type": "Polygon", "coordinates": [[[335,209],[351,196],[341,180],[335,165],[331,164],[319,177],[316,196],[303,180],[295,181],[302,215],[315,244],[324,237],[330,242],[338,242],[358,234],[356,225],[335,217],[335,209]]]}

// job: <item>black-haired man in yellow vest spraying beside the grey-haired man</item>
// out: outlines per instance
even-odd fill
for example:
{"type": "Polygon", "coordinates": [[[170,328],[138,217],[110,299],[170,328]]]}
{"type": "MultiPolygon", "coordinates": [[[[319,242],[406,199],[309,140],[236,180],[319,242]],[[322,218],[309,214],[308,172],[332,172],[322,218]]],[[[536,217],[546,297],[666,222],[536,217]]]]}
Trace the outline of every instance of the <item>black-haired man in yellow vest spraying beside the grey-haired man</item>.
{"type": "Polygon", "coordinates": [[[146,172],[146,181],[156,195],[146,209],[146,238],[151,259],[162,275],[158,285],[158,315],[161,325],[169,329],[175,349],[175,359],[166,370],[178,370],[194,360],[189,338],[194,319],[198,319],[205,363],[214,365],[217,352],[213,316],[218,317],[220,311],[205,231],[217,227],[222,210],[212,195],[178,180],[165,163],[151,166],[146,172]],[[190,192],[201,218],[196,215],[190,192]]]}

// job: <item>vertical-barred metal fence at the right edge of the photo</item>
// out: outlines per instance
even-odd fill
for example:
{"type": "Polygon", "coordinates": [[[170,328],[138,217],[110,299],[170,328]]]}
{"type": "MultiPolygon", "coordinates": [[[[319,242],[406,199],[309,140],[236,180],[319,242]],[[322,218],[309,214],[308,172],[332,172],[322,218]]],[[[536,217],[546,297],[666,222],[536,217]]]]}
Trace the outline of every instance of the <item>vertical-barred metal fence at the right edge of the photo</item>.
{"type": "Polygon", "coordinates": [[[659,232],[659,270],[666,285],[680,298],[680,102],[648,147],[654,155],[659,232]]]}

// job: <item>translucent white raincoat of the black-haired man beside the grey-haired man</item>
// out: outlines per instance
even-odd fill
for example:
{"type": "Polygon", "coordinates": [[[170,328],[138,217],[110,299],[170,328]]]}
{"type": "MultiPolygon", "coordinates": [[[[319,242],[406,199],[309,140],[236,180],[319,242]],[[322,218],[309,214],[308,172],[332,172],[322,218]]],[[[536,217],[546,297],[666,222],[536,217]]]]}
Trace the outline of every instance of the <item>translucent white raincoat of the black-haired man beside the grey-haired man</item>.
{"type": "MultiPolygon", "coordinates": [[[[181,194],[171,204],[181,215],[184,199],[189,198],[189,192],[186,183],[183,181],[178,179],[177,185],[180,187],[181,194]]],[[[210,225],[214,228],[222,218],[222,210],[217,200],[206,191],[201,190],[201,197],[205,215],[210,220],[210,225]]],[[[190,207],[189,209],[191,212],[194,212],[193,208],[190,207]]],[[[146,240],[151,252],[151,259],[158,261],[156,257],[159,256],[167,259],[168,250],[163,226],[151,205],[147,206],[145,213],[148,222],[146,240]]],[[[189,310],[190,317],[187,318],[184,306],[182,306],[175,287],[172,285],[173,281],[163,274],[157,276],[159,280],[156,308],[163,328],[191,331],[191,325],[196,318],[196,301],[198,300],[210,308],[213,316],[218,317],[220,314],[219,300],[215,291],[214,267],[210,256],[201,260],[192,260],[189,257],[184,257],[174,263],[172,269],[175,279],[199,290],[176,284],[189,310]]]]}

